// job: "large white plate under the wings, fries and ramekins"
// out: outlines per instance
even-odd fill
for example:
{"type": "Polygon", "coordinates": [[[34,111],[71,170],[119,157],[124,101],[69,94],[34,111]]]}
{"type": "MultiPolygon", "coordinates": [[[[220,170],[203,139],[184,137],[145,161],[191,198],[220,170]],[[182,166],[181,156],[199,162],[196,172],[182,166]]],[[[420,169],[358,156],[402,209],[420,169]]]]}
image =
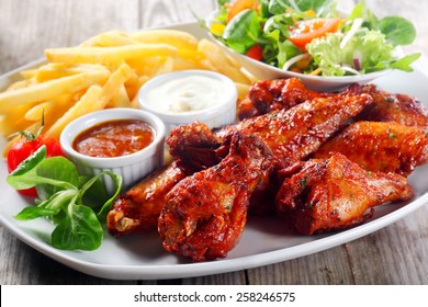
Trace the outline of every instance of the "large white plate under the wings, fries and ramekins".
{"type": "MultiPolygon", "coordinates": [[[[204,32],[195,23],[177,25],[174,29],[194,33],[203,37],[204,32]]],[[[31,64],[40,65],[42,61],[31,64]]],[[[0,77],[0,89],[16,80],[19,75],[11,71],[0,77]]],[[[428,102],[425,90],[428,78],[416,70],[412,73],[394,71],[376,81],[376,84],[391,92],[406,93],[428,102]]],[[[0,149],[4,147],[0,139],[0,149]]],[[[409,178],[416,196],[408,203],[390,204],[378,207],[375,216],[359,227],[329,235],[300,236],[290,231],[275,217],[250,217],[238,246],[224,260],[205,263],[189,261],[168,254],[160,246],[156,231],[132,235],[121,239],[105,232],[105,239],[95,251],[61,251],[52,248],[49,239],[53,225],[46,219],[19,221],[13,218],[30,204],[7,182],[7,167],[0,161],[0,223],[20,240],[77,271],[113,280],[160,280],[190,277],[250,269],[307,255],[349,242],[381,229],[428,203],[428,164],[418,168],[409,178]],[[256,243],[255,243],[256,242],[256,243]]]]}

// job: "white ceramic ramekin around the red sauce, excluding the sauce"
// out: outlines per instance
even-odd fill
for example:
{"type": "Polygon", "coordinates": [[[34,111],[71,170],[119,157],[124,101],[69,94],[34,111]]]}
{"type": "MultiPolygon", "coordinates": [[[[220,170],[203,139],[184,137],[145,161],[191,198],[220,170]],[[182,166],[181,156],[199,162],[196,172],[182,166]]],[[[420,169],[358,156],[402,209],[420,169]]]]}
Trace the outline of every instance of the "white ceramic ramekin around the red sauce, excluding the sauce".
{"type": "MultiPolygon", "coordinates": [[[[77,166],[81,174],[95,175],[103,170],[112,171],[123,179],[122,190],[159,168],[164,163],[165,125],[154,114],[136,109],[106,109],[76,118],[66,126],[59,138],[64,154],[77,166]],[[114,120],[142,120],[155,132],[154,141],[146,148],[122,157],[97,158],[82,155],[72,148],[74,139],[83,130],[114,120]]],[[[106,191],[114,191],[110,177],[103,178],[106,191]]]]}

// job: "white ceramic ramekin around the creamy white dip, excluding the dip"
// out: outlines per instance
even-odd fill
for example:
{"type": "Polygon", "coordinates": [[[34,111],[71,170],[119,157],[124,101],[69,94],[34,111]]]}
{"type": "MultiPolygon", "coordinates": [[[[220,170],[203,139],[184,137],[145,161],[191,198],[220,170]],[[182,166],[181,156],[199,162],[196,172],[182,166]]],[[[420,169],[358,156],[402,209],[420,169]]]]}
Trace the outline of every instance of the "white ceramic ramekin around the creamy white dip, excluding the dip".
{"type": "Polygon", "coordinates": [[[142,110],[156,114],[166,125],[168,136],[171,129],[179,125],[190,124],[200,121],[210,128],[222,127],[236,122],[237,89],[235,83],[226,76],[209,70],[181,70],[160,75],[147,81],[138,92],[138,103],[142,110]],[[222,95],[218,102],[207,109],[199,111],[187,111],[180,113],[161,112],[147,103],[150,90],[169,82],[191,76],[203,76],[222,83],[222,95]]]}

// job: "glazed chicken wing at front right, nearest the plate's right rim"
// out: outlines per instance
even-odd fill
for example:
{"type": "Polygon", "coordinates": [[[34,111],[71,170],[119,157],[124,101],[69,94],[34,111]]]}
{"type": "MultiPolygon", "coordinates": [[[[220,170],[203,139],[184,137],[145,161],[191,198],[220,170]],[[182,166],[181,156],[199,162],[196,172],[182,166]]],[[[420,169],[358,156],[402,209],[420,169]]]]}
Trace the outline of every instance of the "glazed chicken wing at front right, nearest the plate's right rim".
{"type": "Polygon", "coordinates": [[[277,195],[277,208],[301,234],[312,235],[357,226],[373,207],[412,198],[407,180],[395,173],[368,172],[341,154],[312,159],[277,195]]]}

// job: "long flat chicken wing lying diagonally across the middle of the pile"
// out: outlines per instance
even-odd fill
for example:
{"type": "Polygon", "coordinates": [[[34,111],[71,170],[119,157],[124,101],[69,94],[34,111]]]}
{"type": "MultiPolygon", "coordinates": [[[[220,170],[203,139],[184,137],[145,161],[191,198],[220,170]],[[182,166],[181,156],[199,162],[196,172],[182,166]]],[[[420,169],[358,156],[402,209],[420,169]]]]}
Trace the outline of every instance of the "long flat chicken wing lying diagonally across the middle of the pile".
{"type": "Polygon", "coordinates": [[[284,167],[316,151],[345,122],[372,103],[370,95],[315,98],[289,110],[226,126],[216,136],[227,143],[235,133],[259,136],[284,167]]]}

